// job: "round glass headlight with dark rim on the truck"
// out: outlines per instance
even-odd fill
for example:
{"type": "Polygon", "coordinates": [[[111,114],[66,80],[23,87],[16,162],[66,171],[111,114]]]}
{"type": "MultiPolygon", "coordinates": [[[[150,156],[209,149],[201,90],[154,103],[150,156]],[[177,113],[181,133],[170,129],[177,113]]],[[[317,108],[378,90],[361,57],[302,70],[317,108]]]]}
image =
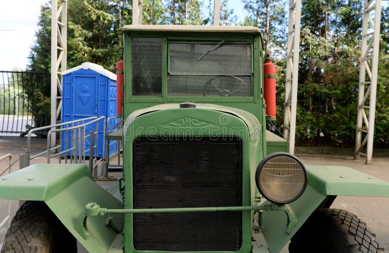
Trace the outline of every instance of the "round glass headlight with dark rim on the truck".
{"type": "Polygon", "coordinates": [[[285,152],[270,154],[255,173],[258,190],[269,201],[286,204],[298,199],[307,186],[307,173],[301,161],[285,152]]]}

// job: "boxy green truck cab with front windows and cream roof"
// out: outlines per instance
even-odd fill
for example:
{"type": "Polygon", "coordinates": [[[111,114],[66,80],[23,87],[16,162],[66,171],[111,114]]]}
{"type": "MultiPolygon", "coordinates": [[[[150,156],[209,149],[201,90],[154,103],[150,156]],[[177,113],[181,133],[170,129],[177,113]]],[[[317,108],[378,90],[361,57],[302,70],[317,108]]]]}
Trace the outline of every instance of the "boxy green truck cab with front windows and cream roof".
{"type": "Polygon", "coordinates": [[[124,26],[124,118],[158,104],[215,104],[263,121],[257,27],[124,26]]]}

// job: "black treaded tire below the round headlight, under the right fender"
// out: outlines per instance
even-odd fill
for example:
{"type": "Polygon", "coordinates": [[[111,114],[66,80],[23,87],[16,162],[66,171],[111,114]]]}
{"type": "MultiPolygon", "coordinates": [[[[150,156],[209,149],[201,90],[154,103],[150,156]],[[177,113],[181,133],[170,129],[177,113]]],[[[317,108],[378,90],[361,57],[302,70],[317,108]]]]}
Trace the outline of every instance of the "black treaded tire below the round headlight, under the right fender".
{"type": "Polygon", "coordinates": [[[383,253],[375,234],[354,214],[316,210],[292,237],[289,253],[383,253]]]}

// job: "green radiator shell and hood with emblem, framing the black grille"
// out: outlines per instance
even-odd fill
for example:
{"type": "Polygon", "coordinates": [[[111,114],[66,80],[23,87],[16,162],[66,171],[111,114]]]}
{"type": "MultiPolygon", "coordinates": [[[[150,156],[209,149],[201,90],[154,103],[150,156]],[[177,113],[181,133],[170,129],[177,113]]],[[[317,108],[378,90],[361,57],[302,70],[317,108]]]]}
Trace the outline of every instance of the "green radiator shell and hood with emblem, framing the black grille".
{"type": "MultiPolygon", "coordinates": [[[[243,205],[251,204],[251,196],[256,193],[255,184],[250,183],[251,174],[255,173],[258,160],[263,157],[262,127],[258,120],[246,111],[233,108],[223,108],[214,105],[204,105],[202,108],[178,108],[174,105],[161,105],[143,109],[130,115],[124,123],[124,153],[133,153],[133,141],[138,136],[236,136],[243,144],[243,205]],[[213,109],[210,109],[213,108],[213,109]],[[147,113],[147,111],[149,113],[147,113]],[[226,113],[225,111],[229,111],[226,113]],[[234,113],[231,113],[231,112],[234,113]],[[146,113],[146,114],[144,114],[146,113]],[[231,115],[233,114],[233,115],[231,115]],[[237,115],[237,116],[234,116],[237,115]],[[239,115],[239,117],[238,117],[239,115]],[[224,118],[225,117],[225,118],[224,118]],[[240,117],[246,119],[243,121],[240,117]],[[224,121],[226,119],[227,121],[224,121]],[[253,131],[257,129],[257,131],[253,131]],[[165,132],[168,130],[169,132],[165,132]],[[255,138],[254,138],[255,136],[255,138]],[[253,187],[251,187],[253,186],[253,187]],[[254,191],[253,193],[250,191],[254,191]]],[[[132,156],[124,156],[124,174],[132,178],[132,156]]],[[[132,181],[126,181],[124,208],[133,208],[132,181]]],[[[251,211],[242,212],[242,248],[239,252],[251,250],[251,211]]],[[[147,252],[137,251],[132,245],[133,218],[125,214],[124,251],[128,253],[147,252]],[[130,242],[130,243],[128,243],[130,242]]],[[[157,251],[155,251],[157,253],[157,251]]]]}

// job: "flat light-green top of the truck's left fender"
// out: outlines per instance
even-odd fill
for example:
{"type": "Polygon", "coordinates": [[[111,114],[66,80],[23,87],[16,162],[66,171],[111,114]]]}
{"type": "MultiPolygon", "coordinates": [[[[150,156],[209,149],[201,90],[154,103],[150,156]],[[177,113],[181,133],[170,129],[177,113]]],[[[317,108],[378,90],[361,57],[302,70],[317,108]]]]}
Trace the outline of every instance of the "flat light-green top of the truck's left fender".
{"type": "Polygon", "coordinates": [[[0,178],[0,199],[51,199],[84,177],[92,179],[85,164],[34,164],[0,178]]]}

